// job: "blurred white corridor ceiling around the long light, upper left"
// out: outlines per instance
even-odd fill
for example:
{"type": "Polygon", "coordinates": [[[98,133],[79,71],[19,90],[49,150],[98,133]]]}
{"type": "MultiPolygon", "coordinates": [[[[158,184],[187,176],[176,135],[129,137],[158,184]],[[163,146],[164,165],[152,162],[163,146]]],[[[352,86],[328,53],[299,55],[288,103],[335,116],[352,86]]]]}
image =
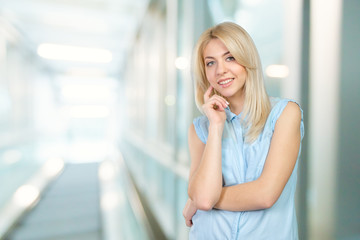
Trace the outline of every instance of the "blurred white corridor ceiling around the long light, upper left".
{"type": "Polygon", "coordinates": [[[0,0],[0,20],[34,53],[42,43],[112,53],[110,63],[41,60],[55,71],[90,67],[118,74],[147,5],[148,0],[0,0]]]}

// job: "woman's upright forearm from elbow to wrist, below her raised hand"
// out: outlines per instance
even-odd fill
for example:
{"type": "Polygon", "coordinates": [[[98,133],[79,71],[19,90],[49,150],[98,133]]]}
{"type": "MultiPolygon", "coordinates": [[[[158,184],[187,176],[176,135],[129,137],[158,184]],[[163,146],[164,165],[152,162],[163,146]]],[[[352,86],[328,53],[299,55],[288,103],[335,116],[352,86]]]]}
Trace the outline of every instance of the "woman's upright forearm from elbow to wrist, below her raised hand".
{"type": "Polygon", "coordinates": [[[222,190],[221,137],[223,125],[210,125],[208,140],[199,167],[189,180],[188,194],[195,206],[210,210],[222,190]]]}

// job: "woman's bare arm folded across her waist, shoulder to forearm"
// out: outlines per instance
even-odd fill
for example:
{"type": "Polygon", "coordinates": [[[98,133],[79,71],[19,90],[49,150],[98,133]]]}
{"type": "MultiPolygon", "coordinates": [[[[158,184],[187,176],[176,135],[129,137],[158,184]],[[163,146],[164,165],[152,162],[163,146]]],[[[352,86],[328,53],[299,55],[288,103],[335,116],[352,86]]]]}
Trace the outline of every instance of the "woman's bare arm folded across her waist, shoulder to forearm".
{"type": "Polygon", "coordinates": [[[264,169],[252,182],[222,188],[214,206],[229,211],[270,208],[280,197],[296,164],[300,148],[301,111],[289,102],[277,120],[264,169]]]}

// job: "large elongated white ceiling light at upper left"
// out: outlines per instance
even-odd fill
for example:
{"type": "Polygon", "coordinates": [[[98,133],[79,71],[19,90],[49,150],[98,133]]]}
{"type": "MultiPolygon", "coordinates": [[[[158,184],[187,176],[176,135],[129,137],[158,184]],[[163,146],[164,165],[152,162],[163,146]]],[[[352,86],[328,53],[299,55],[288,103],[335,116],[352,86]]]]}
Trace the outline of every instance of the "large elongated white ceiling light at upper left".
{"type": "Polygon", "coordinates": [[[95,63],[108,63],[112,60],[111,52],[106,49],[51,43],[40,44],[37,49],[37,53],[43,58],[52,60],[95,63]]]}

